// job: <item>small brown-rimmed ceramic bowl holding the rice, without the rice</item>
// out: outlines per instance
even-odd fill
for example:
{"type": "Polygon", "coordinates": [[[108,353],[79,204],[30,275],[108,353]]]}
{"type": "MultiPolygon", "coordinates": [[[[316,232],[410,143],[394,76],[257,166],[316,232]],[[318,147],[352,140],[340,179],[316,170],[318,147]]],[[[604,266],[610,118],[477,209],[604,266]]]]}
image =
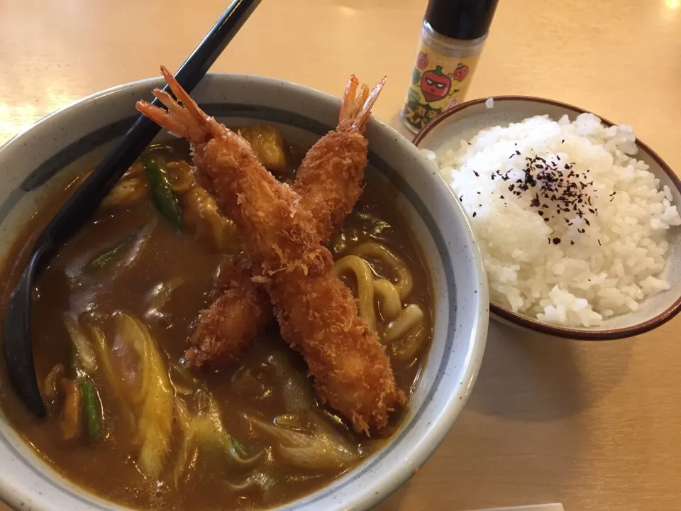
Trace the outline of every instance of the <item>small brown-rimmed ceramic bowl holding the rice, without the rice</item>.
{"type": "MultiPolygon", "coordinates": [[[[494,97],[493,106],[487,106],[487,99],[477,99],[460,104],[443,112],[416,134],[414,144],[421,149],[432,150],[436,155],[443,154],[448,144],[469,140],[483,128],[508,126],[531,116],[546,115],[558,120],[567,114],[574,121],[585,110],[569,104],[523,96],[494,97]]],[[[601,117],[603,123],[613,123],[601,117]]],[[[634,126],[634,130],[636,126],[634,126]]],[[[673,195],[673,204],[681,207],[681,181],[662,158],[641,141],[636,141],[636,158],[650,166],[650,172],[660,180],[660,187],[667,185],[673,195]]],[[[445,176],[449,180],[449,176],[445,176]]],[[[599,326],[591,328],[567,328],[541,322],[536,317],[511,311],[501,304],[492,302],[492,317],[513,326],[540,331],[544,334],[568,339],[605,340],[622,339],[643,334],[668,322],[681,310],[681,227],[672,227],[668,232],[670,250],[668,253],[665,278],[671,289],[661,292],[642,302],[636,312],[622,314],[607,319],[599,326]]]]}

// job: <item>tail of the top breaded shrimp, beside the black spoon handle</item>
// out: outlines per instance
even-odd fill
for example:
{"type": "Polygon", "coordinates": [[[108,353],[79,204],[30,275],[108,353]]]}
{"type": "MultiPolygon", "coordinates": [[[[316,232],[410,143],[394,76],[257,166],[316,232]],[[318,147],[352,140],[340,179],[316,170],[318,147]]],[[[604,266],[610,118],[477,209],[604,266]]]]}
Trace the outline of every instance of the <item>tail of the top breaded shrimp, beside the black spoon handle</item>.
{"type": "Polygon", "coordinates": [[[177,99],[163,90],[154,89],[154,96],[167,108],[167,111],[143,100],[135,105],[138,111],[162,128],[187,139],[190,143],[205,143],[213,138],[215,121],[189,97],[187,91],[182,89],[167,67],[161,66],[161,73],[177,99]]]}

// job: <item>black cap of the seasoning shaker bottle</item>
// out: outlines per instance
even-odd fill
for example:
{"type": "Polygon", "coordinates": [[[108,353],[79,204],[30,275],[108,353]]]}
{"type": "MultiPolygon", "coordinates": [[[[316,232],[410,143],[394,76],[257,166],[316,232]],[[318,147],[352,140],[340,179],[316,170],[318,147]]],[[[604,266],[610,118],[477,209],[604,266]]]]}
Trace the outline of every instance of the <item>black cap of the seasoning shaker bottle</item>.
{"type": "Polygon", "coordinates": [[[477,39],[489,32],[499,0],[430,0],[426,21],[452,39],[477,39]]]}

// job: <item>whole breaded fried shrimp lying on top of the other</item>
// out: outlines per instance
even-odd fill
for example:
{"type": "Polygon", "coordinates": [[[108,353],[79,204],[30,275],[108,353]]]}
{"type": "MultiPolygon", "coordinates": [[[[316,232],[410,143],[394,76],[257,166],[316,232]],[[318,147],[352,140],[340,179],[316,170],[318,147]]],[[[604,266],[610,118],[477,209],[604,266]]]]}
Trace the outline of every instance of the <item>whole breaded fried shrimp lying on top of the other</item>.
{"type": "Polygon", "coordinates": [[[138,101],[138,110],[192,144],[196,177],[239,227],[245,251],[267,280],[282,336],[301,352],[321,399],[358,432],[384,428],[404,394],[377,334],[333,275],[312,214],[300,206],[299,194],[262,167],[246,141],[206,116],[161,70],[184,106],[155,90],[168,111],[146,101],[138,101]]]}

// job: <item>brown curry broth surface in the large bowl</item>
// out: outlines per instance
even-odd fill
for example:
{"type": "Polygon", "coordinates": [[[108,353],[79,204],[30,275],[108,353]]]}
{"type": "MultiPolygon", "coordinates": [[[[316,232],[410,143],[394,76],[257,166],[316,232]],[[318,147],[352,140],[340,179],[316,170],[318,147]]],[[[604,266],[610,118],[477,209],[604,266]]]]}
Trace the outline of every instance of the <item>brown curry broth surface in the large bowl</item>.
{"type": "MultiPolygon", "coordinates": [[[[173,142],[166,152],[171,158],[181,158],[187,155],[187,147],[184,143],[173,142]]],[[[289,152],[289,155],[293,154],[297,156],[291,159],[299,163],[300,151],[289,152]]],[[[23,268],[35,236],[48,223],[57,207],[65,202],[72,189],[73,185],[57,192],[52,202],[36,214],[16,238],[0,276],[4,288],[1,300],[3,312],[11,290],[21,276],[18,268],[23,268]],[[16,260],[21,260],[22,264],[14,265],[16,260]]],[[[338,258],[354,243],[378,241],[408,261],[414,278],[414,290],[409,301],[421,306],[425,313],[424,324],[428,329],[428,339],[416,358],[404,363],[392,358],[397,383],[409,395],[425,362],[424,353],[432,336],[431,281],[423,266],[419,248],[409,235],[404,221],[394,210],[392,201],[382,197],[384,193],[379,187],[371,183],[367,185],[331,248],[334,258],[338,258]]],[[[68,366],[72,343],[63,322],[65,313],[74,316],[90,314],[114,349],[116,334],[111,317],[121,310],[133,314],[148,326],[162,351],[167,353],[168,361],[177,362],[187,348],[187,336],[192,331],[192,323],[199,311],[211,302],[214,277],[220,261],[220,253],[202,246],[186,233],[173,230],[157,213],[149,198],[131,207],[98,211],[87,226],[60,249],[38,281],[32,328],[35,366],[40,380],[55,364],[68,366]],[[84,269],[97,254],[126,237],[132,238],[133,243],[116,262],[94,273],[84,269]],[[162,314],[146,314],[145,318],[155,287],[177,279],[179,286],[170,295],[162,314]]],[[[380,265],[374,265],[373,268],[381,276],[392,278],[387,268],[380,265]]],[[[349,284],[352,285],[352,282],[349,284]]],[[[53,468],[74,483],[114,502],[140,509],[272,507],[318,490],[353,468],[344,466],[333,470],[309,470],[294,466],[277,454],[275,441],[256,434],[243,419],[243,412],[247,412],[250,416],[271,422],[277,415],[286,412],[276,379],[263,370],[266,358],[272,352],[281,353],[296,370],[306,374],[304,361],[286,346],[274,324],[237,363],[198,375],[206,382],[208,390],[221,407],[221,417],[227,432],[246,444],[249,451],[265,450],[267,453],[268,470],[275,484],[265,493],[258,488],[235,490],[231,484],[243,480],[242,469],[232,466],[220,456],[212,455],[196,458],[191,478],[176,485],[172,477],[174,454],[179,448],[175,429],[172,450],[166,461],[167,468],[160,480],[145,478],[135,465],[132,431],[121,418],[120,403],[106,384],[101,368],[92,375],[99,390],[104,416],[104,433],[99,441],[92,442],[83,437],[63,441],[57,427],[59,410],[55,407],[50,409],[46,422],[31,416],[13,394],[6,378],[4,362],[1,364],[0,405],[13,427],[53,468]],[[258,385],[244,388],[241,375],[245,370],[255,370],[262,375],[258,385]]],[[[135,370],[134,367],[118,369],[123,373],[135,370]]],[[[394,424],[399,422],[400,414],[394,414],[394,424]]],[[[354,434],[345,422],[329,410],[326,410],[325,417],[328,424],[356,446],[362,456],[382,445],[380,440],[354,434]]],[[[356,463],[360,461],[361,457],[356,463]]]]}

